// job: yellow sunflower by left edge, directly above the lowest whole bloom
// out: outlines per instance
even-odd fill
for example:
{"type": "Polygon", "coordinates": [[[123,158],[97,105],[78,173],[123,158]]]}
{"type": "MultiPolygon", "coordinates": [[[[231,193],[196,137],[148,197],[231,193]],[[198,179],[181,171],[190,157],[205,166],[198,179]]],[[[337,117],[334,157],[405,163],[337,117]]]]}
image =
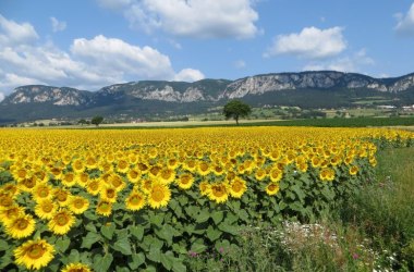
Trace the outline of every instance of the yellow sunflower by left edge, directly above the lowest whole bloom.
{"type": "Polygon", "coordinates": [[[31,214],[21,214],[5,224],[5,233],[14,239],[21,239],[31,236],[35,226],[36,221],[31,214]]]}

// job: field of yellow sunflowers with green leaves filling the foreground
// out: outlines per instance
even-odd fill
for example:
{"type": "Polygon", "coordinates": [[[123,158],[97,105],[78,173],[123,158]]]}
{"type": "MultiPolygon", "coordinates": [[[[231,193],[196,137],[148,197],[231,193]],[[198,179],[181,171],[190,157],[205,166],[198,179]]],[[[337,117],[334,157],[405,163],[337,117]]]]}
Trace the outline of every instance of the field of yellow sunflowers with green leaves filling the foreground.
{"type": "Polygon", "coordinates": [[[1,271],[186,271],[373,180],[379,128],[1,129],[1,271]]]}

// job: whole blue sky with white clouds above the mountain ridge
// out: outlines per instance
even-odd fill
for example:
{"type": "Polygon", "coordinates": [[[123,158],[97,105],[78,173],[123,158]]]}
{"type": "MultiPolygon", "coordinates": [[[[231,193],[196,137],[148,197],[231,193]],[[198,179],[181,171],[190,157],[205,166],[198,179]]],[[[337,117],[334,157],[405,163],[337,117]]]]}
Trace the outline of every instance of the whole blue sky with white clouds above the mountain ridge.
{"type": "Polygon", "coordinates": [[[0,100],[27,84],[414,72],[413,0],[0,0],[0,100]]]}

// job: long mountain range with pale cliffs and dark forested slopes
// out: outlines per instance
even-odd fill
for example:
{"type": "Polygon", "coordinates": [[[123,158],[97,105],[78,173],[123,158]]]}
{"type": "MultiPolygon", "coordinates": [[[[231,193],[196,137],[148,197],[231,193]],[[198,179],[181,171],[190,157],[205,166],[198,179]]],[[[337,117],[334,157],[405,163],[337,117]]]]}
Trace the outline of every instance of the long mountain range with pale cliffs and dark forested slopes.
{"type": "Polygon", "coordinates": [[[242,99],[254,107],[301,108],[414,103],[414,73],[374,78],[334,71],[272,73],[236,81],[202,79],[194,83],[141,81],[114,84],[97,91],[70,87],[27,85],[0,102],[0,123],[50,118],[150,116],[205,112],[242,99]]]}

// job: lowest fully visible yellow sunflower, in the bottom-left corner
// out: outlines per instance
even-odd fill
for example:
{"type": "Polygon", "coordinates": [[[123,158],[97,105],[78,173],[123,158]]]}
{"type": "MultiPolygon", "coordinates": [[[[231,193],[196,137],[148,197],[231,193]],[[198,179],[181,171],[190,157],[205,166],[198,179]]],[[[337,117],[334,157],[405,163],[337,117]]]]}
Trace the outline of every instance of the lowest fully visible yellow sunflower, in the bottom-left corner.
{"type": "Polygon", "coordinates": [[[45,239],[27,240],[14,249],[15,262],[27,269],[47,267],[53,259],[54,248],[45,239]]]}

